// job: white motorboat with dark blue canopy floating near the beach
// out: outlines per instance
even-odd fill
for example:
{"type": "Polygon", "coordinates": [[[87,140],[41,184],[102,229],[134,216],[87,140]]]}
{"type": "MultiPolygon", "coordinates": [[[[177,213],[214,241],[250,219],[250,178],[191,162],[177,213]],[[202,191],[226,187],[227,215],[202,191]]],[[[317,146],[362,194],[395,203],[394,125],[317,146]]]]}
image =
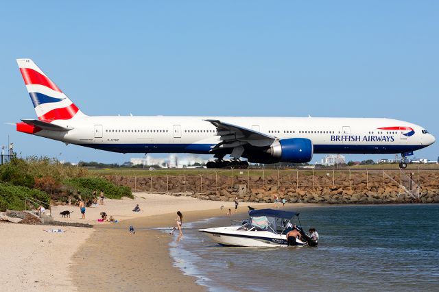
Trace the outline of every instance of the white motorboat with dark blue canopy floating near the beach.
{"type": "MultiPolygon", "coordinates": [[[[286,247],[287,232],[293,228],[293,219],[298,213],[282,210],[261,209],[248,212],[248,220],[237,226],[215,227],[200,229],[212,241],[225,246],[245,247],[286,247]]],[[[297,228],[297,227],[296,227],[297,228]]],[[[297,228],[302,239],[309,237],[297,228]]],[[[296,246],[307,245],[307,241],[296,239],[296,246]]]]}

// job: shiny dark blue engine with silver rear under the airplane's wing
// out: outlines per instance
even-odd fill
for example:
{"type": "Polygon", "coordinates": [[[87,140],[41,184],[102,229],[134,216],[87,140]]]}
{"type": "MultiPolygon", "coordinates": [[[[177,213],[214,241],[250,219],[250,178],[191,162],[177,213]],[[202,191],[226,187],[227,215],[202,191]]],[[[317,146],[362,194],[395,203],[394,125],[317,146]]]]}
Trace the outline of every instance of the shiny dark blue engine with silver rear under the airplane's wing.
{"type": "Polygon", "coordinates": [[[267,150],[281,162],[304,163],[313,158],[313,143],[307,138],[289,138],[275,141],[267,150]]]}

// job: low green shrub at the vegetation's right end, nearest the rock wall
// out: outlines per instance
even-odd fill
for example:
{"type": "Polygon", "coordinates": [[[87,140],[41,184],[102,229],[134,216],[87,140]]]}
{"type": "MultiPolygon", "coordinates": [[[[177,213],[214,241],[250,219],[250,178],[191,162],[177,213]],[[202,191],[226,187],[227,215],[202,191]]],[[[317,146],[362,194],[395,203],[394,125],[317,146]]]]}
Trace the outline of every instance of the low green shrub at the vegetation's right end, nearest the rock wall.
{"type": "Polygon", "coordinates": [[[81,197],[84,199],[91,198],[93,191],[97,191],[97,195],[99,195],[101,190],[104,191],[104,195],[109,199],[121,199],[122,197],[134,199],[131,188],[128,186],[116,186],[104,178],[72,178],[64,180],[64,184],[78,189],[81,197]]]}

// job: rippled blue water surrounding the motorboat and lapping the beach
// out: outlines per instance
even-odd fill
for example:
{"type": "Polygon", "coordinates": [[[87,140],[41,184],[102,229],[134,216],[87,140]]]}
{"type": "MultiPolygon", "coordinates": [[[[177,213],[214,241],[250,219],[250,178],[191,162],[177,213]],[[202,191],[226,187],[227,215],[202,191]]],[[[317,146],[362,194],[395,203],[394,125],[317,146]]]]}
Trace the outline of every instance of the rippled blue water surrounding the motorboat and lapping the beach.
{"type": "Polygon", "coordinates": [[[236,215],[186,224],[170,254],[209,291],[439,291],[439,205],[295,211],[318,247],[222,247],[198,232],[246,218],[236,215]]]}

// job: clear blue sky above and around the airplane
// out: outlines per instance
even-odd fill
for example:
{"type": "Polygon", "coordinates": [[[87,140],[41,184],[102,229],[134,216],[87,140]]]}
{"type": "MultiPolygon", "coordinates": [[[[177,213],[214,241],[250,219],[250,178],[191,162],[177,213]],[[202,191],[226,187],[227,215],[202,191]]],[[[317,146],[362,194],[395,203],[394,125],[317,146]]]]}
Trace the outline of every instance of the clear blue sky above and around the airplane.
{"type": "MultiPolygon", "coordinates": [[[[438,1],[8,1],[0,145],[9,135],[22,156],[71,162],[141,156],[15,132],[7,123],[36,117],[16,58],[89,115],[389,117],[439,136],[438,12],[438,1]]],[[[415,155],[436,160],[438,145],[415,155]]]]}

